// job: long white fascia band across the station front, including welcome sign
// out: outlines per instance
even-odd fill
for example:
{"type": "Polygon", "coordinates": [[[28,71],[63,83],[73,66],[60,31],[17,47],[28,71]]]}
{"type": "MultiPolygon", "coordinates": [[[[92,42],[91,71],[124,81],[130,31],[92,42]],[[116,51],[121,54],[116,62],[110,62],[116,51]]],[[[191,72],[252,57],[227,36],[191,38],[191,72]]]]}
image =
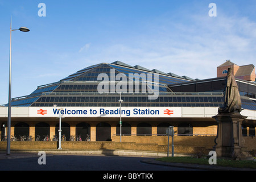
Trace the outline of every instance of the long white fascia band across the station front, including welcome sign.
{"type": "MultiPolygon", "coordinates": [[[[14,118],[119,118],[120,107],[12,107],[14,118]],[[61,112],[61,113],[60,113],[61,112]]],[[[122,118],[212,118],[218,107],[122,107],[122,118]]],[[[7,118],[8,107],[0,107],[0,118],[7,118]]],[[[244,109],[242,115],[256,120],[256,111],[244,109]]],[[[159,119],[160,121],[160,119],[159,119]]]]}

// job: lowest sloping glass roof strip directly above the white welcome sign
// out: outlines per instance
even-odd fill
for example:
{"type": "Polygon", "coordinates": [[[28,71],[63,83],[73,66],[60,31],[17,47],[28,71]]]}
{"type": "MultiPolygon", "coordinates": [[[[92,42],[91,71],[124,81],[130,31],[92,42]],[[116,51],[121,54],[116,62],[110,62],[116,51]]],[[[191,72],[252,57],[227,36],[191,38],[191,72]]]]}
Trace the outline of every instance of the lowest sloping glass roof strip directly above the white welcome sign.
{"type": "MultiPolygon", "coordinates": [[[[148,100],[148,94],[122,94],[122,106],[219,107],[224,103],[222,93],[216,94],[160,94],[148,100]]],[[[119,94],[49,93],[32,106],[119,106],[119,94]]]]}

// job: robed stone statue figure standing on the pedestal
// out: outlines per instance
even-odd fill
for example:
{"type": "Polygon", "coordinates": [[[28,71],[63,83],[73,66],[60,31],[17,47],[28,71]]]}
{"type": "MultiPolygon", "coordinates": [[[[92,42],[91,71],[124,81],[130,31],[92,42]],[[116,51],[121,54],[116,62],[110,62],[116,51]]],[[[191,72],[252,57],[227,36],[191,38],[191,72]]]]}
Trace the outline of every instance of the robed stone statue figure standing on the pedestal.
{"type": "Polygon", "coordinates": [[[225,88],[225,102],[223,107],[218,108],[218,113],[240,113],[242,109],[241,105],[241,98],[238,91],[237,82],[232,75],[232,68],[228,68],[225,88]]]}

